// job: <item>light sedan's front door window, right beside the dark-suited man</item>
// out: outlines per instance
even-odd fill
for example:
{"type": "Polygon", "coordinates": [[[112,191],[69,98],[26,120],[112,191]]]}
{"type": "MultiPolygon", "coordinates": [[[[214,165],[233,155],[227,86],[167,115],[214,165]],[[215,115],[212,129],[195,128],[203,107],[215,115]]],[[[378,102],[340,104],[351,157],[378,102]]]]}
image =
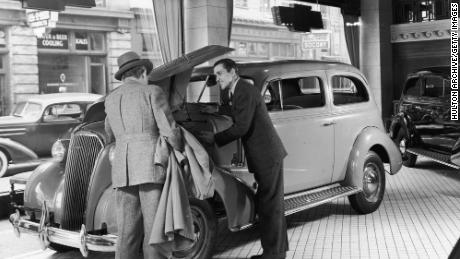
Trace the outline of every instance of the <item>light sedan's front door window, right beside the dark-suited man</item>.
{"type": "Polygon", "coordinates": [[[321,79],[310,76],[271,82],[264,93],[264,101],[269,111],[324,106],[321,79]]]}

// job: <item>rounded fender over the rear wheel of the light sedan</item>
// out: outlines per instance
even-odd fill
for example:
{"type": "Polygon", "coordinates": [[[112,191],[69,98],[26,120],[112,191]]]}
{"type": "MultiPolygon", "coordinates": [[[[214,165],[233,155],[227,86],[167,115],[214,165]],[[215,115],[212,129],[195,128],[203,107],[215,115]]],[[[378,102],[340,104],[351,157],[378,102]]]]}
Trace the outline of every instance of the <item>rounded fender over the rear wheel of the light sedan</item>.
{"type": "Polygon", "coordinates": [[[359,188],[363,186],[364,160],[366,154],[371,150],[376,152],[382,161],[388,160],[390,174],[395,174],[401,169],[401,152],[394,142],[380,129],[367,127],[360,132],[350,152],[344,182],[346,185],[359,188]]]}

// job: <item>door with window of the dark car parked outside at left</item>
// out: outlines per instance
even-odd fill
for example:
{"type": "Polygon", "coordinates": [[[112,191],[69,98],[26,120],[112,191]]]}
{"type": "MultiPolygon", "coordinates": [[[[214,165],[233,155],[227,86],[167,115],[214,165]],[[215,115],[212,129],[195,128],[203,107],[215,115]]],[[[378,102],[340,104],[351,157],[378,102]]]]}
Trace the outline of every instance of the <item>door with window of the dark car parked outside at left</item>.
{"type": "Polygon", "coordinates": [[[81,123],[83,111],[84,106],[79,103],[58,103],[46,107],[34,133],[37,154],[50,155],[53,143],[81,123]]]}

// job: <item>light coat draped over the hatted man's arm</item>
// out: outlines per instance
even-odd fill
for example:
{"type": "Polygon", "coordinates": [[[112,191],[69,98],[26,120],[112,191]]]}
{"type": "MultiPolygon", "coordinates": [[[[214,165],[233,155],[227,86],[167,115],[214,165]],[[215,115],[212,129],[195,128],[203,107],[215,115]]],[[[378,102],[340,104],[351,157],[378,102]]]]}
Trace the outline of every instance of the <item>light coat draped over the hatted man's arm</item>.
{"type": "Polygon", "coordinates": [[[214,196],[213,165],[206,150],[191,133],[180,129],[184,152],[160,137],[154,160],[165,168],[166,180],[149,243],[172,251],[190,248],[195,241],[189,195],[201,200],[214,196]]]}

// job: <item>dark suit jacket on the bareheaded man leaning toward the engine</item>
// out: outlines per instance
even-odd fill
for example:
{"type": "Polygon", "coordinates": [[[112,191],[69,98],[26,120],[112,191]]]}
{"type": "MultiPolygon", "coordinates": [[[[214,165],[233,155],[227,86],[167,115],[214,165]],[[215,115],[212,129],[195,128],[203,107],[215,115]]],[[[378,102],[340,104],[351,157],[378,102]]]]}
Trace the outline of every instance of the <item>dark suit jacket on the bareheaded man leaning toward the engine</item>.
{"type": "MultiPolygon", "coordinates": [[[[225,93],[222,95],[225,104],[225,93]]],[[[230,100],[233,125],[215,135],[218,146],[241,138],[249,171],[263,171],[287,152],[268,115],[267,107],[256,87],[238,80],[230,100]]]]}

